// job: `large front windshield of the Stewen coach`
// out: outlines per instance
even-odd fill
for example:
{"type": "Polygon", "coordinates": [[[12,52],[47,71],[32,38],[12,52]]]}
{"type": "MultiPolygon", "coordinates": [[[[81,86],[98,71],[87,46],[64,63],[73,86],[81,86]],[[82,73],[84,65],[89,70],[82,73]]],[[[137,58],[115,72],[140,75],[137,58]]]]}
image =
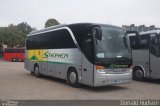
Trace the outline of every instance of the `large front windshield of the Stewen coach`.
{"type": "Polygon", "coordinates": [[[97,62],[131,61],[129,39],[125,30],[116,27],[101,27],[102,39],[96,39],[97,62]]]}

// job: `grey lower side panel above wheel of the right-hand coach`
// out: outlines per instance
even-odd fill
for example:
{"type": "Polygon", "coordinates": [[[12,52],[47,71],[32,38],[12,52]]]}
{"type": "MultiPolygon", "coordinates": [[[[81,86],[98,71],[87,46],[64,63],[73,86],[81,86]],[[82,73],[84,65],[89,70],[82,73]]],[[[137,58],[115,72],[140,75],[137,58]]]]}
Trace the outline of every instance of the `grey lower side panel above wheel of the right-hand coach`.
{"type": "Polygon", "coordinates": [[[149,50],[132,50],[133,67],[141,66],[144,76],[149,77],[149,50]]]}

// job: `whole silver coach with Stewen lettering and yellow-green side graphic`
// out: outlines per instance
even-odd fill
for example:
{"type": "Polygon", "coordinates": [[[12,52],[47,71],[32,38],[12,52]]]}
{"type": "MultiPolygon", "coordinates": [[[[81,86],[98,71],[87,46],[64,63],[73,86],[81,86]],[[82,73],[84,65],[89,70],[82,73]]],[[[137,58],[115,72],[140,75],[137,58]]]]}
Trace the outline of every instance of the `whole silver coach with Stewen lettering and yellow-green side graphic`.
{"type": "Polygon", "coordinates": [[[129,37],[112,25],[78,23],[31,32],[26,38],[25,68],[92,87],[132,81],[129,37]]]}

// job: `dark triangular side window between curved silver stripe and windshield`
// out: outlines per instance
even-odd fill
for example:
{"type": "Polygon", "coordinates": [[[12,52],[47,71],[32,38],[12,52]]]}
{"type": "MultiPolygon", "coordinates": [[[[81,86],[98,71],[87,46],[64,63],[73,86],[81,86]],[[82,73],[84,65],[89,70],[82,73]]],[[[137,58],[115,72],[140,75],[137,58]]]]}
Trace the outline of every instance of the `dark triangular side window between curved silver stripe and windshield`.
{"type": "Polygon", "coordinates": [[[93,26],[91,26],[90,24],[69,26],[82,52],[91,63],[93,63],[93,53],[94,53],[92,27],[93,26]]]}

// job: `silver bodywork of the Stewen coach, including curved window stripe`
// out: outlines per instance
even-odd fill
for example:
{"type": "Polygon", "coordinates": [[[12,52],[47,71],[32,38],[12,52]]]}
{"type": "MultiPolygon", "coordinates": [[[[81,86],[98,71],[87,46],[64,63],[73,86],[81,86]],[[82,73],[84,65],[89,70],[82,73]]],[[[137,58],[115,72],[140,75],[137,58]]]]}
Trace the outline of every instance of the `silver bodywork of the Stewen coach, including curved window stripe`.
{"type": "MultiPolygon", "coordinates": [[[[66,29],[69,31],[74,43],[77,48],[75,49],[66,49],[63,51],[70,52],[70,58],[63,60],[63,64],[58,63],[57,61],[51,60],[51,62],[44,61],[31,61],[29,59],[28,50],[25,52],[25,68],[31,72],[34,71],[34,66],[37,64],[39,66],[40,74],[46,76],[52,76],[60,79],[67,80],[67,71],[69,68],[75,68],[78,73],[78,82],[86,84],[89,86],[106,86],[114,85],[121,83],[129,83],[132,80],[132,70],[130,68],[125,68],[123,73],[116,72],[116,69],[105,69],[106,73],[99,73],[96,70],[96,66],[88,61],[84,56],[79,45],[69,27],[61,27],[57,29],[49,28],[49,30],[42,30],[38,32],[33,32],[28,36],[34,36],[38,33],[47,33],[54,30],[66,29]],[[53,62],[52,62],[53,61],[53,62]]],[[[33,50],[34,51],[34,50],[33,50]]],[[[49,51],[49,50],[45,50],[49,51]]],[[[52,51],[52,50],[51,50],[52,51]]],[[[54,51],[54,50],[53,50],[54,51]]],[[[61,50],[59,50],[61,51],[61,50]]],[[[47,61],[49,61],[47,59],[47,61]]]]}

